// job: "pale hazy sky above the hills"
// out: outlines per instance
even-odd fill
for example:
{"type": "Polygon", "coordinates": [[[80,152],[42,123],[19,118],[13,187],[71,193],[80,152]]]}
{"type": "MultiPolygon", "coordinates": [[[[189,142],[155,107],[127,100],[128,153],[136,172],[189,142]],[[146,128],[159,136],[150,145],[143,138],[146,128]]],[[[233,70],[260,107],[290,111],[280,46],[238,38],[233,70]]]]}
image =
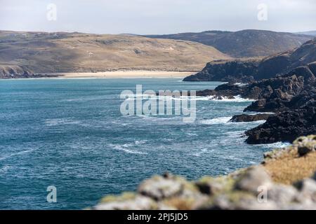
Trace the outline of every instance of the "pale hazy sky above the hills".
{"type": "Polygon", "coordinates": [[[93,34],[316,30],[315,0],[0,0],[0,29],[93,34]]]}

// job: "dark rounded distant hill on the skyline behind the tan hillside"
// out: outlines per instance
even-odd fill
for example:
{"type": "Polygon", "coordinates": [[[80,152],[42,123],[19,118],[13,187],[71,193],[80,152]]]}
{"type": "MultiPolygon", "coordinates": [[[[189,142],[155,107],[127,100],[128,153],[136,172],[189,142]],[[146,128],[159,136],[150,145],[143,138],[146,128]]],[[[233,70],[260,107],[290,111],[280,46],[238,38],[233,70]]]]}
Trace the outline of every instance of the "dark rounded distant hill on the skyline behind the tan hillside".
{"type": "Polygon", "coordinates": [[[312,36],[265,30],[204,31],[168,35],[147,35],[150,38],[169,38],[211,45],[232,57],[258,57],[291,50],[312,39],[312,36]]]}

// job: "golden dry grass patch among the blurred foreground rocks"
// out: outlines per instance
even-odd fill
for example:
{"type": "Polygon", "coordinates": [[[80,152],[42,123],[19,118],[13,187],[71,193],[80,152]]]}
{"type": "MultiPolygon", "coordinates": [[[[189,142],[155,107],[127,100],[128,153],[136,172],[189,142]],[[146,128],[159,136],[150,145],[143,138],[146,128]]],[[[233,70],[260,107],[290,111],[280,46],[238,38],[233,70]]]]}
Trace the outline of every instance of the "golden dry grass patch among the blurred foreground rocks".
{"type": "Polygon", "coordinates": [[[284,153],[281,158],[271,160],[264,165],[273,181],[292,184],[306,179],[316,171],[316,152],[299,157],[297,150],[284,153]]]}

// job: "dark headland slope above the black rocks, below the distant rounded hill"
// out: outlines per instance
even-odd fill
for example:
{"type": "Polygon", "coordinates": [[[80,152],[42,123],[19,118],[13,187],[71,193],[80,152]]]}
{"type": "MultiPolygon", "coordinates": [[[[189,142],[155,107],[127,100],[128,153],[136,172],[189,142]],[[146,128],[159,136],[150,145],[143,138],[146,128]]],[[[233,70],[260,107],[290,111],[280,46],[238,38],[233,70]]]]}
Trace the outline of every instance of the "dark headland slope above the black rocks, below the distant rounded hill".
{"type": "MultiPolygon", "coordinates": [[[[254,80],[272,78],[316,62],[316,38],[299,48],[288,50],[261,60],[228,60],[209,62],[199,73],[188,76],[185,81],[225,81],[249,83],[254,80]]],[[[295,72],[296,70],[294,70],[295,72]]]]}

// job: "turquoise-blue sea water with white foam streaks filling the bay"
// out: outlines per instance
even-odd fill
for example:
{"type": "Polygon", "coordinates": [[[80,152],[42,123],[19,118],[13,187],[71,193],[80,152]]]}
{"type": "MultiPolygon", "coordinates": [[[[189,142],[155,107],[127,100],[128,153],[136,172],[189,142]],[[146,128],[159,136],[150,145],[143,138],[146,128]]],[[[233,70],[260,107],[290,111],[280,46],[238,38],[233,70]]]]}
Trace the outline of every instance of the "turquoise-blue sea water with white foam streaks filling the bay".
{"type": "Polygon", "coordinates": [[[204,90],[180,78],[0,80],[0,209],[84,209],[153,174],[228,174],[273,146],[244,144],[255,123],[227,123],[251,102],[197,100],[197,120],[121,116],[122,90],[204,90]],[[57,188],[57,203],[46,188],[57,188]]]}

